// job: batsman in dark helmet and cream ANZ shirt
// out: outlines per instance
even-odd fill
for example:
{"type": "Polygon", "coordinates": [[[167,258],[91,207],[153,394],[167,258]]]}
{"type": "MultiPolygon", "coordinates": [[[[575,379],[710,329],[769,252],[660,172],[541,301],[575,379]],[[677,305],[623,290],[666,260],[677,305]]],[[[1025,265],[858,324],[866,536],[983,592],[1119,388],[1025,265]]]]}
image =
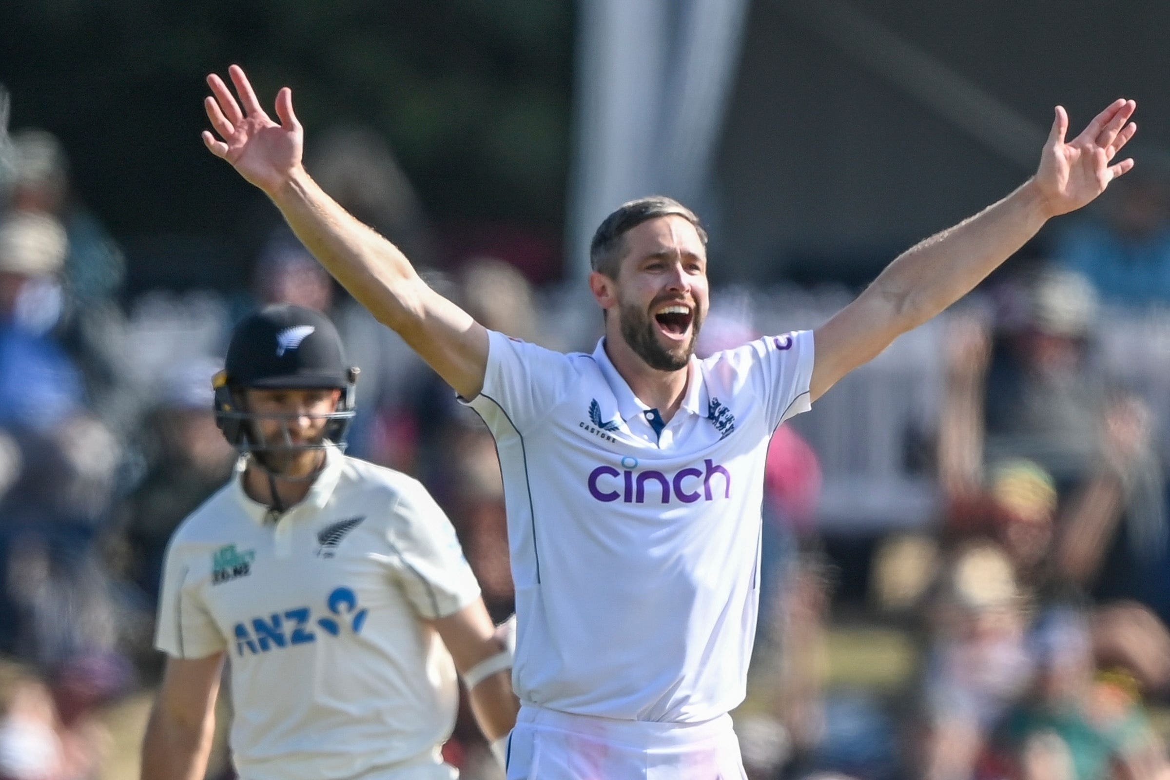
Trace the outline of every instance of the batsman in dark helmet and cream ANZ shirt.
{"type": "Polygon", "coordinates": [[[204,776],[225,661],[242,780],[457,776],[439,754],[456,669],[489,740],[515,723],[511,654],[442,510],[342,454],[356,379],[319,312],[233,332],[215,414],[242,456],[167,548],[143,780],[204,776]]]}

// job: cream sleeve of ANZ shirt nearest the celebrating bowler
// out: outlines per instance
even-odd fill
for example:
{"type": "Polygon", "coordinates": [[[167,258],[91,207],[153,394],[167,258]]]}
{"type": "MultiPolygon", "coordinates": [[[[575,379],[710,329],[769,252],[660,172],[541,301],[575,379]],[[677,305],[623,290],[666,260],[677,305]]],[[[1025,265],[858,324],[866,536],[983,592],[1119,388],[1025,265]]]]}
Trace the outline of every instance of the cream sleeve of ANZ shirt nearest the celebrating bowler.
{"type": "Polygon", "coordinates": [[[393,515],[391,565],[420,617],[446,617],[480,596],[455,529],[426,488],[412,479],[399,492],[393,515]]]}

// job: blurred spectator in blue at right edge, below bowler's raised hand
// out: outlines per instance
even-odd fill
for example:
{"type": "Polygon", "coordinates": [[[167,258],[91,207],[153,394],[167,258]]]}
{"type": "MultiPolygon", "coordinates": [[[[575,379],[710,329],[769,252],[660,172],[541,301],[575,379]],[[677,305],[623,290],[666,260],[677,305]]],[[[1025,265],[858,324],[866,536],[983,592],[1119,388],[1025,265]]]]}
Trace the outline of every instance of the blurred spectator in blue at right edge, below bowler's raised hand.
{"type": "Polygon", "coordinates": [[[1138,173],[1102,203],[1099,219],[1073,221],[1058,236],[1058,261],[1083,274],[1112,304],[1170,304],[1170,202],[1165,184],[1138,173]]]}

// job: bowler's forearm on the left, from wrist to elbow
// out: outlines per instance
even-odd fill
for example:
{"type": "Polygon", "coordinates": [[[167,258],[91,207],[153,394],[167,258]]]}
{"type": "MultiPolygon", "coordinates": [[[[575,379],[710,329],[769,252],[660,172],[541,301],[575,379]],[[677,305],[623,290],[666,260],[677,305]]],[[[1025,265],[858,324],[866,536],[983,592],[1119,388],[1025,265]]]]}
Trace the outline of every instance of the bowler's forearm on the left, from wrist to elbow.
{"type": "Polygon", "coordinates": [[[297,168],[268,195],[322,265],[374,317],[400,330],[422,284],[406,256],[297,168]]]}

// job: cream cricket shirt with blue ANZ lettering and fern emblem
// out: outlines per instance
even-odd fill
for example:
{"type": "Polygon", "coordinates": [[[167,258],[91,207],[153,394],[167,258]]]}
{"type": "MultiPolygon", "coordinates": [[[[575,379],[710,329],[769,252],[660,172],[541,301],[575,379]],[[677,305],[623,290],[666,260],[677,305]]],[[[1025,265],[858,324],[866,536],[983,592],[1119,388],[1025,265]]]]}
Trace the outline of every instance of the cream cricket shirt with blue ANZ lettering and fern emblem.
{"type": "Polygon", "coordinates": [[[171,539],[156,636],[179,658],[227,653],[240,776],[434,761],[459,689],[421,619],[480,594],[447,517],[417,481],[329,449],[305,499],[271,522],[242,467],[171,539]]]}

